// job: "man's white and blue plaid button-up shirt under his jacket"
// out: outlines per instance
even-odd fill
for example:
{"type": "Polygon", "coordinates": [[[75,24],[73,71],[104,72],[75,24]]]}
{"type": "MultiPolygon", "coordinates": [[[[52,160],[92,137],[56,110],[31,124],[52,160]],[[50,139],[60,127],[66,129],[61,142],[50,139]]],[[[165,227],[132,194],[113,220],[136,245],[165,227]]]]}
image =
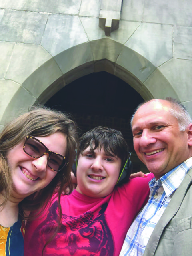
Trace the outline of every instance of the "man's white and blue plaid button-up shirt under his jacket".
{"type": "Polygon", "coordinates": [[[142,256],[144,254],[154,227],[174,195],[174,191],[191,167],[192,157],[160,177],[158,181],[153,178],[149,182],[149,200],[130,226],[120,256],[142,256]]]}

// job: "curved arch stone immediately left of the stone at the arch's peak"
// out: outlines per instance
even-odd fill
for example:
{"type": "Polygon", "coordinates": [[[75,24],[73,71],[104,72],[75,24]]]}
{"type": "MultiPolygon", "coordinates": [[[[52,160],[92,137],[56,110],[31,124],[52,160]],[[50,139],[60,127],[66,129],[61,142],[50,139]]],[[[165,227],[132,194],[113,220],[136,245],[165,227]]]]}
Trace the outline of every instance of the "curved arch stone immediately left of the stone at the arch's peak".
{"type": "Polygon", "coordinates": [[[80,65],[93,61],[90,43],[86,42],[71,47],[54,56],[54,59],[62,73],[65,74],[80,65]]]}

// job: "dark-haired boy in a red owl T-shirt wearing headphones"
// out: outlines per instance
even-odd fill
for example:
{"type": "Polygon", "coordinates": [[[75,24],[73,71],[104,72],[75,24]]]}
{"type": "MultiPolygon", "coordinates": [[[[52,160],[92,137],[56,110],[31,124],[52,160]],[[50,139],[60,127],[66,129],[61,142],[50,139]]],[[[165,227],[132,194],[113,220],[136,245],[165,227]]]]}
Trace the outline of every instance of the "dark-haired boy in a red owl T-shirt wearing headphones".
{"type": "Polygon", "coordinates": [[[55,198],[46,214],[26,226],[25,255],[118,256],[146,204],[153,175],[129,179],[131,163],[120,131],[96,127],[81,137],[79,148],[78,185],[61,198],[59,231],[48,242],[58,219],[55,198]]]}

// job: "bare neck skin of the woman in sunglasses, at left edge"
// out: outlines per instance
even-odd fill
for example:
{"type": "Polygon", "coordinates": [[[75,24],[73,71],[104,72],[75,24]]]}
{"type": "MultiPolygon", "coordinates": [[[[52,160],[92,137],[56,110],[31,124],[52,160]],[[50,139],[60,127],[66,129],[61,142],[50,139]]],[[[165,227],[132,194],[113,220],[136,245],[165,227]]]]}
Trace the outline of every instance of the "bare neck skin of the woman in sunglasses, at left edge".
{"type": "MultiPolygon", "coordinates": [[[[4,201],[4,196],[0,194],[0,203],[4,201]]],[[[10,199],[0,207],[0,224],[4,227],[11,227],[18,220],[19,202],[10,199]]]]}

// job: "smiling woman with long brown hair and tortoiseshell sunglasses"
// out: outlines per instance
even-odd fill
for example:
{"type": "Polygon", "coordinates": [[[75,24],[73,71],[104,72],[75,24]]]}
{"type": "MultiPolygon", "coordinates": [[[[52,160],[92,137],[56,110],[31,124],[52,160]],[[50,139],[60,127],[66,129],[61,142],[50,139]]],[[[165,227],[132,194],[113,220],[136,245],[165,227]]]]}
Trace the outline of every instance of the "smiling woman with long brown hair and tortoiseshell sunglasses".
{"type": "Polygon", "coordinates": [[[6,125],[0,134],[0,255],[24,255],[25,213],[43,209],[54,191],[60,208],[76,146],[76,125],[60,111],[34,108],[6,125]]]}

